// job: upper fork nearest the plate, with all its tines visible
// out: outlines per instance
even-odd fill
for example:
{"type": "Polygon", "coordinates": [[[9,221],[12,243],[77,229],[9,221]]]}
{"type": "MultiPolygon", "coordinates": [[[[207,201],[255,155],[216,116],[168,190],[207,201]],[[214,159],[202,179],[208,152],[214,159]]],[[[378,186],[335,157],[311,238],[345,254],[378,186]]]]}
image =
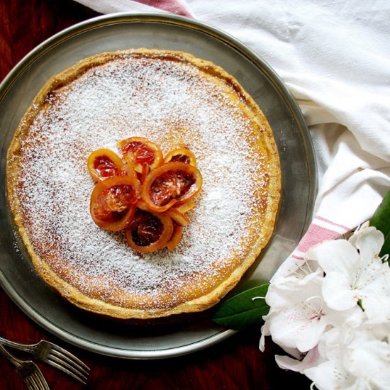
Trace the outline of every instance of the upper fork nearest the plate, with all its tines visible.
{"type": "Polygon", "coordinates": [[[89,375],[89,367],[67,350],[50,341],[40,340],[36,344],[21,344],[0,337],[0,345],[30,352],[38,362],[48,363],[57,369],[85,384],[89,375]]]}

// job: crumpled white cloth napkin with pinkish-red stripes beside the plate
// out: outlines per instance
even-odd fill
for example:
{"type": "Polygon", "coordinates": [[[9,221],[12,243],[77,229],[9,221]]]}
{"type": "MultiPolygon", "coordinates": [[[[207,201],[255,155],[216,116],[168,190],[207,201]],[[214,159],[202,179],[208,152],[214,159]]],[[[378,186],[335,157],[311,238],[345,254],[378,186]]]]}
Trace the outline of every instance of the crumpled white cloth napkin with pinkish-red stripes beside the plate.
{"type": "Polygon", "coordinates": [[[372,216],[390,189],[388,0],[77,0],[101,13],[167,11],[225,30],[298,101],[318,163],[314,218],[291,255],[372,216]]]}

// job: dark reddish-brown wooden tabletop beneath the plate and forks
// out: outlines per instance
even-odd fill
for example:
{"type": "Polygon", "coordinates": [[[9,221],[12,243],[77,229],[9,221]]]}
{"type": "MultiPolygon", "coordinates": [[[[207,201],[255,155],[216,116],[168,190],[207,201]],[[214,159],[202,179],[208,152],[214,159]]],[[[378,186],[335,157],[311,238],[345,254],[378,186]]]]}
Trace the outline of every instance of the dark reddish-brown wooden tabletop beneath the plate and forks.
{"type": "MultiPolygon", "coordinates": [[[[0,80],[36,45],[74,23],[98,16],[72,0],[0,0],[0,80]]],[[[34,294],[34,291],[31,291],[34,294]]],[[[26,316],[0,289],[0,335],[20,342],[42,338],[74,352],[89,367],[87,385],[38,363],[50,389],[308,389],[300,374],[274,362],[281,351],[267,340],[258,348],[260,328],[238,333],[218,345],[167,360],[121,360],[96,355],[55,338],[26,316]]],[[[0,356],[0,389],[26,389],[13,367],[0,356]]]]}

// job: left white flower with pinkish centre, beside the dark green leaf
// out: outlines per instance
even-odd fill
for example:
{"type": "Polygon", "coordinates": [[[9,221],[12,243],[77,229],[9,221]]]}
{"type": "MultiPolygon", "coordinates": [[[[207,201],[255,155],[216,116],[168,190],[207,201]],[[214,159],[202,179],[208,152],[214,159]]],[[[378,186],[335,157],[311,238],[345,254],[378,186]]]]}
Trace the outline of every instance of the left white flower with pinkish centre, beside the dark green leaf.
{"type": "Polygon", "coordinates": [[[284,350],[296,348],[307,352],[318,344],[329,325],[339,325],[350,316],[361,315],[357,306],[344,313],[329,308],[322,298],[322,283],[322,272],[318,269],[303,279],[285,279],[269,286],[266,301],[270,311],[264,317],[264,331],[284,350]]]}

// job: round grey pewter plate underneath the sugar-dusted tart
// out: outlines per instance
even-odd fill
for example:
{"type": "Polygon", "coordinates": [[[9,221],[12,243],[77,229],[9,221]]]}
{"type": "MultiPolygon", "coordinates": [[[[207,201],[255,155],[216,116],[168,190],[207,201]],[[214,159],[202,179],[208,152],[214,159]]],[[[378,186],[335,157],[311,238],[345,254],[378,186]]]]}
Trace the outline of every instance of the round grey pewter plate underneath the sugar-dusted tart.
{"type": "Polygon", "coordinates": [[[213,323],[212,311],[158,325],[131,325],[72,306],[35,273],[6,200],[6,151],[23,113],[43,84],[84,57],[128,48],[182,50],[220,65],[257,101],[274,130],[282,163],[277,227],[271,243],[238,289],[267,282],[299,242],[311,221],[316,167],[301,111],[274,70],[235,38],[189,18],[160,13],[94,18],[46,40],[4,79],[0,85],[1,286],[33,321],[67,342],[102,355],[160,359],[210,347],[235,332],[213,323]]]}

